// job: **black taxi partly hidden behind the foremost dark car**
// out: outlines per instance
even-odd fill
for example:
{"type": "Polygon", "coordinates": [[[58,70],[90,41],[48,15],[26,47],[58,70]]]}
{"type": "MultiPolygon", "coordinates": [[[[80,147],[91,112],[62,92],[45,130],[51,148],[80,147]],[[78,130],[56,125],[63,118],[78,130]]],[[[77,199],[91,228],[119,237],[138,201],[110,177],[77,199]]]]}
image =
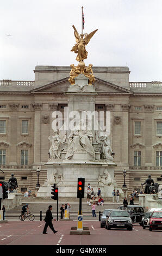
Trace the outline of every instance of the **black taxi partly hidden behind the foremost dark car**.
{"type": "Polygon", "coordinates": [[[142,225],[142,217],[144,214],[144,208],[140,205],[120,205],[117,209],[125,210],[130,215],[133,223],[139,223],[142,225]]]}

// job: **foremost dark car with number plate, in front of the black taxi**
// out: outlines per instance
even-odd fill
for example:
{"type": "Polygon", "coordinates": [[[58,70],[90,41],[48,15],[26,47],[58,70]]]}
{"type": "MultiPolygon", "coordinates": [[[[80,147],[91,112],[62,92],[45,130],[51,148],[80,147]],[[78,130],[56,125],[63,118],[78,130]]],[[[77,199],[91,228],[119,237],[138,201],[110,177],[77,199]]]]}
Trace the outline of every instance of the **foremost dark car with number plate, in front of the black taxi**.
{"type": "Polygon", "coordinates": [[[127,211],[111,210],[105,223],[105,229],[126,228],[133,230],[132,220],[127,211]]]}

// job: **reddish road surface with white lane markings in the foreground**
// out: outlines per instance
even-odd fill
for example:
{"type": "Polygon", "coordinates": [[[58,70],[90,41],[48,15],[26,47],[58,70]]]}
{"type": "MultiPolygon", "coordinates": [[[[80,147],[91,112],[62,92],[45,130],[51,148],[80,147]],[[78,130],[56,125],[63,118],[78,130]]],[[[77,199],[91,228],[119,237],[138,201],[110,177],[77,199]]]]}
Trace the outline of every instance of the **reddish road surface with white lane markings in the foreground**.
{"type": "Polygon", "coordinates": [[[47,235],[42,234],[44,221],[28,220],[9,221],[0,224],[0,245],[162,245],[162,230],[142,229],[139,224],[133,225],[133,230],[113,229],[107,230],[100,227],[100,222],[83,221],[89,227],[90,235],[70,235],[72,226],[76,221],[53,221],[53,226],[58,233],[53,234],[48,227],[47,235]]]}

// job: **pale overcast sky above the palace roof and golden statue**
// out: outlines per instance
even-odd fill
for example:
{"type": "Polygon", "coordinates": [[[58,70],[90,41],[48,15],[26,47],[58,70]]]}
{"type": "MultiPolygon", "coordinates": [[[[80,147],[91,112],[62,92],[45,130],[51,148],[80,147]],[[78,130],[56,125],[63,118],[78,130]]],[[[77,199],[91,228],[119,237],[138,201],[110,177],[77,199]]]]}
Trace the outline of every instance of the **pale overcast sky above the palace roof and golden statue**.
{"type": "Polygon", "coordinates": [[[86,65],[128,66],[129,81],[162,81],[161,0],[0,0],[0,80],[34,80],[36,65],[77,65],[73,28],[95,33],[86,65]],[[11,34],[7,36],[6,34],[11,34]]]}

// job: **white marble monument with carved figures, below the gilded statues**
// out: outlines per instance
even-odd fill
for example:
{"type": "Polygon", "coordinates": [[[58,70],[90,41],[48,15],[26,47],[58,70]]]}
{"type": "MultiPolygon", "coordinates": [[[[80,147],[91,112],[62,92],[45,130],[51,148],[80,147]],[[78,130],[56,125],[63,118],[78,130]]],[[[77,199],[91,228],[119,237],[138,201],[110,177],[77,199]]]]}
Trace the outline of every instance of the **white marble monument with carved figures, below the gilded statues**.
{"type": "Polygon", "coordinates": [[[94,118],[89,127],[88,112],[95,113],[94,88],[88,84],[88,78],[80,74],[75,78],[66,93],[68,95],[68,129],[54,130],[49,136],[51,148],[47,166],[47,179],[39,188],[37,197],[51,196],[51,185],[59,187],[59,197],[77,197],[77,179],[85,178],[86,187],[90,183],[94,191],[101,188],[103,198],[112,196],[114,190],[113,150],[109,136],[96,131],[94,118]],[[84,117],[73,119],[71,113],[84,113],[84,117]],[[75,123],[73,129],[72,124],[75,123]],[[88,124],[88,125],[86,125],[88,124]]]}

